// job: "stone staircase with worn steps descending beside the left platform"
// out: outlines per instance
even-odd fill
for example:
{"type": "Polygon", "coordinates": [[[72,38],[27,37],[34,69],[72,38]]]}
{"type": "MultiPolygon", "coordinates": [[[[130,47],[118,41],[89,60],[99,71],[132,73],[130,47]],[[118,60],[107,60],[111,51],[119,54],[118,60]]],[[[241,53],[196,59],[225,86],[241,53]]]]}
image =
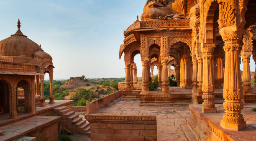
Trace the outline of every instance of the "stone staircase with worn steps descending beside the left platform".
{"type": "Polygon", "coordinates": [[[53,109],[56,114],[61,116],[61,125],[72,133],[90,135],[90,123],[79,117],[71,110],[71,107],[60,106],[53,109]]]}

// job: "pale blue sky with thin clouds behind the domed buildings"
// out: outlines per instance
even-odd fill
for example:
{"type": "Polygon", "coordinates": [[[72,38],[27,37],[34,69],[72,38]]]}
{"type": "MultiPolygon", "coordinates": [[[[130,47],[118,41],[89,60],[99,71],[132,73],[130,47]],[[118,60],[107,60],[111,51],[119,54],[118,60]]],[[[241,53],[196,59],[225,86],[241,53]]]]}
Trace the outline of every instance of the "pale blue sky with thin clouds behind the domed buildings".
{"type": "MultiPolygon", "coordinates": [[[[17,30],[53,57],[54,79],[125,77],[123,30],[141,15],[146,0],[1,0],[0,40],[17,30]]],[[[141,59],[136,55],[138,77],[141,59]]],[[[254,61],[251,61],[254,64],[254,61]]],[[[251,70],[254,71],[251,65],[251,70]]],[[[157,69],[155,68],[154,74],[157,69]]]]}

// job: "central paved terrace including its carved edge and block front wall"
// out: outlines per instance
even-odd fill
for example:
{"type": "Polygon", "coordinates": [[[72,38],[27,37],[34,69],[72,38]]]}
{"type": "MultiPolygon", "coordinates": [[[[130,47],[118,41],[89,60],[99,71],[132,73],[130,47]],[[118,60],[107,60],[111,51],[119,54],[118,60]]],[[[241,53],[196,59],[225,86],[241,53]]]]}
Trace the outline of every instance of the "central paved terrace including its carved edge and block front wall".
{"type": "Polygon", "coordinates": [[[92,141],[196,141],[188,105],[140,106],[122,97],[85,114],[92,141]]]}

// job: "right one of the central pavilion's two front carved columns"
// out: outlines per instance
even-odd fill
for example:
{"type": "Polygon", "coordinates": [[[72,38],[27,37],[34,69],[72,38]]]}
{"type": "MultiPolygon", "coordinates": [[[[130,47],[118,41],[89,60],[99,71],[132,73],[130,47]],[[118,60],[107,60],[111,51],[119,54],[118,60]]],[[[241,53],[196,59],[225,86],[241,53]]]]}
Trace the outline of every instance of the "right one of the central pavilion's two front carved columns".
{"type": "Polygon", "coordinates": [[[162,94],[169,94],[168,59],[162,59],[162,94]]]}

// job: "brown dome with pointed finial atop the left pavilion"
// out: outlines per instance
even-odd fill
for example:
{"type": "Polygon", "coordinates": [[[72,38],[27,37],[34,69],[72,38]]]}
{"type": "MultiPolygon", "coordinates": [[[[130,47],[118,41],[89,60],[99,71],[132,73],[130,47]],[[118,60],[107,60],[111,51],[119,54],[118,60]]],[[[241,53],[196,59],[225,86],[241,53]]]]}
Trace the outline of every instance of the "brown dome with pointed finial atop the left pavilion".
{"type": "Polygon", "coordinates": [[[18,31],[14,35],[0,41],[0,55],[33,57],[37,50],[42,49],[20,31],[20,19],[18,20],[18,31]]]}

